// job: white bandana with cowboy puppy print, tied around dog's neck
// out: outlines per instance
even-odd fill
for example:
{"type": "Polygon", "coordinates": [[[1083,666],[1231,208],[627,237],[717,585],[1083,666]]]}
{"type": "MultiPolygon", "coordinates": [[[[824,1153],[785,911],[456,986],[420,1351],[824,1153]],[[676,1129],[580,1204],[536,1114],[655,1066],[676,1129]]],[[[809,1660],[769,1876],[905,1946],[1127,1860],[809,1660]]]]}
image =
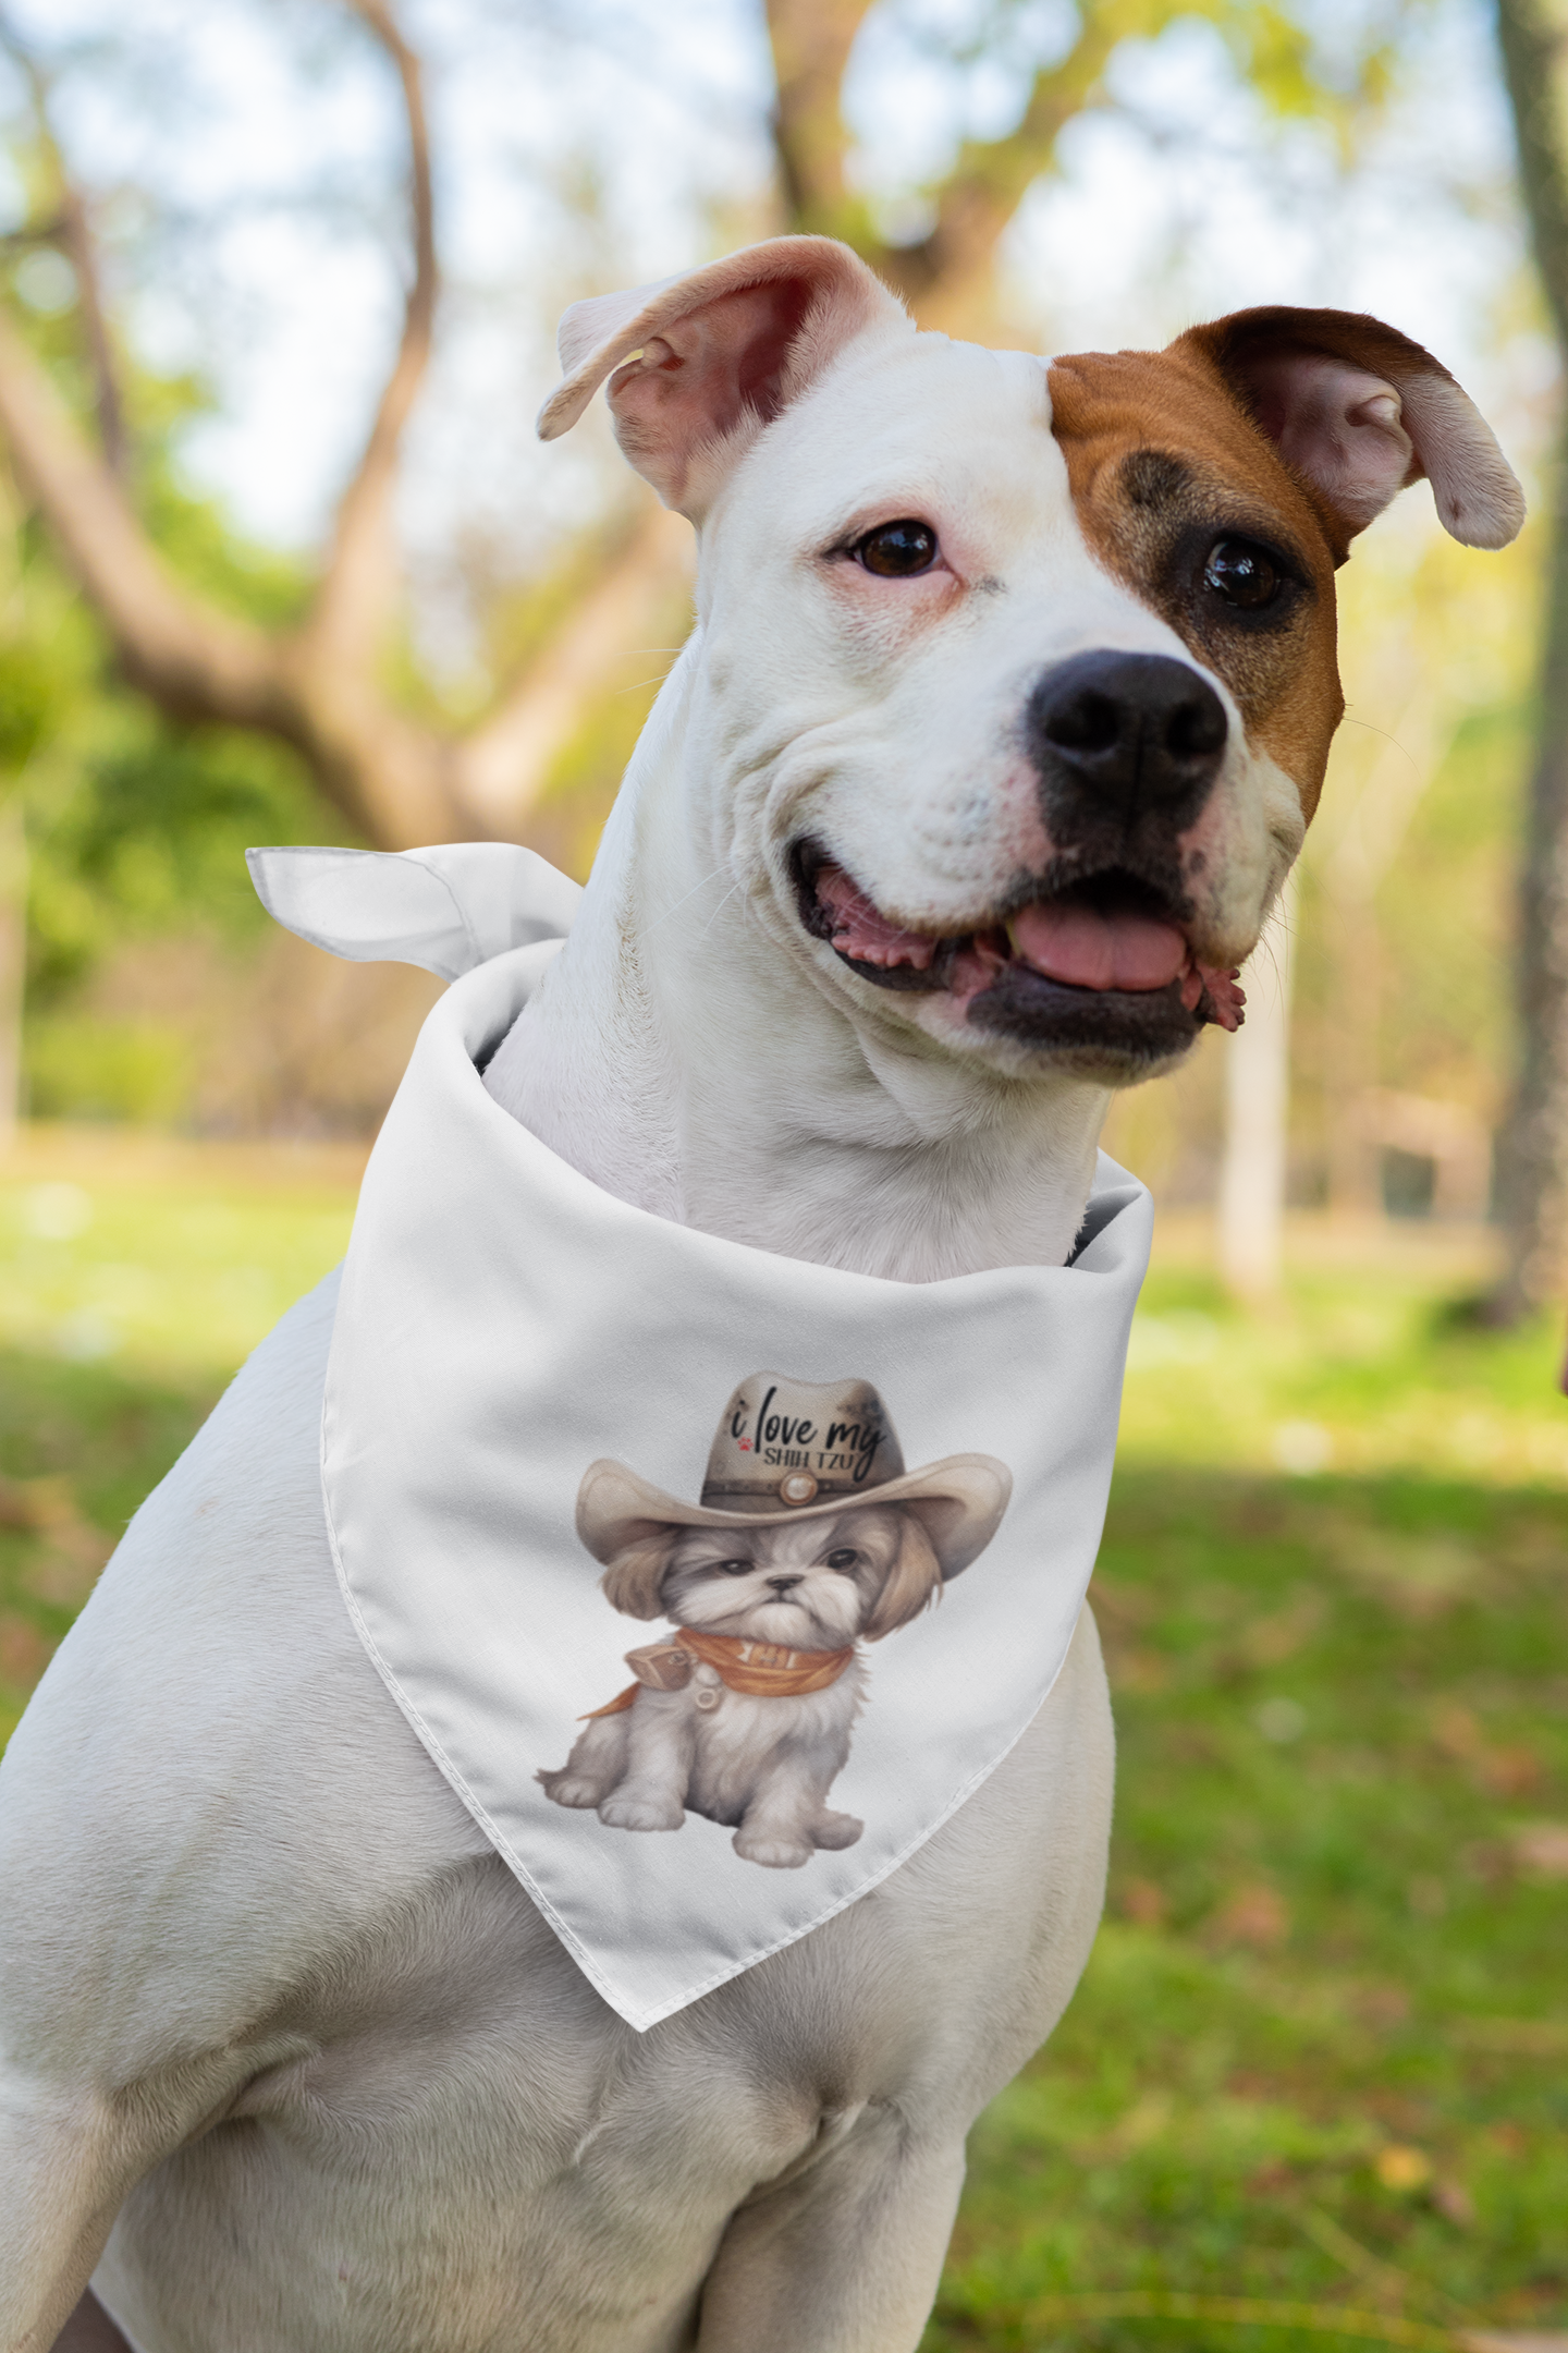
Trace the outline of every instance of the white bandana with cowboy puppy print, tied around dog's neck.
{"type": "Polygon", "coordinates": [[[360,1193],[327,1525],[404,1715],[646,2028],[884,1880],[1037,1713],[1100,1544],[1150,1195],[1100,1155],[1070,1266],[945,1282],[672,1226],[480,1080],[571,882],[487,845],[252,871],[320,946],[463,974],[360,1193]]]}

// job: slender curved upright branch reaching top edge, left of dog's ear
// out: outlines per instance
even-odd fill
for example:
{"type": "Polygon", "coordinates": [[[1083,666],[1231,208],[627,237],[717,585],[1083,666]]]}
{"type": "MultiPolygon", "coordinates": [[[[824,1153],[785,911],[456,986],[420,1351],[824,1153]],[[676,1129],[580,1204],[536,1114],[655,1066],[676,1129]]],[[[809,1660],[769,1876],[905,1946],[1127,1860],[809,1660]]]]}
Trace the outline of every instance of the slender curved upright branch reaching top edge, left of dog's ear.
{"type": "Polygon", "coordinates": [[[397,68],[409,129],[409,209],[414,231],[414,280],[402,318],[393,374],[381,393],[376,421],[360,466],[339,501],[322,586],[301,633],[308,659],[367,671],[386,633],[397,588],[393,494],[397,447],[430,365],[440,271],[435,261],[435,200],[430,186],[430,132],[421,68],[388,0],[348,0],[397,68]]]}

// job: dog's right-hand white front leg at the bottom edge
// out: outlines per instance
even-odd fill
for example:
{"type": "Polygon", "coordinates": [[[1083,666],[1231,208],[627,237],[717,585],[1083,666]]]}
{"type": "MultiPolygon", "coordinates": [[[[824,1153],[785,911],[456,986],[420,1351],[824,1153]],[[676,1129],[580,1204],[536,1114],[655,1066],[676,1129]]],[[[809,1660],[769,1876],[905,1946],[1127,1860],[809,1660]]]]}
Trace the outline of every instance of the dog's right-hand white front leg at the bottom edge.
{"type": "Polygon", "coordinates": [[[698,2353],[914,2353],[964,2188],[964,2144],[924,2146],[891,2106],[733,2214],[698,2353]]]}

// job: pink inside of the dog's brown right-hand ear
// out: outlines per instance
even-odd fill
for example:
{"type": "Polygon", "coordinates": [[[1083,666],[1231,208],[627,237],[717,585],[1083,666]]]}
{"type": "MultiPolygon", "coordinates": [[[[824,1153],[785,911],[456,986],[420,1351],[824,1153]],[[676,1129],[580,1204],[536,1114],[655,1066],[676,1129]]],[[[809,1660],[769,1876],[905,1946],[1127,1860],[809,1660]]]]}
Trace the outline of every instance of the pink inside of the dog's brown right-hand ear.
{"type": "Polygon", "coordinates": [[[1392,384],[1321,351],[1258,353],[1246,365],[1258,424],[1279,454],[1356,527],[1422,466],[1392,384]]]}

